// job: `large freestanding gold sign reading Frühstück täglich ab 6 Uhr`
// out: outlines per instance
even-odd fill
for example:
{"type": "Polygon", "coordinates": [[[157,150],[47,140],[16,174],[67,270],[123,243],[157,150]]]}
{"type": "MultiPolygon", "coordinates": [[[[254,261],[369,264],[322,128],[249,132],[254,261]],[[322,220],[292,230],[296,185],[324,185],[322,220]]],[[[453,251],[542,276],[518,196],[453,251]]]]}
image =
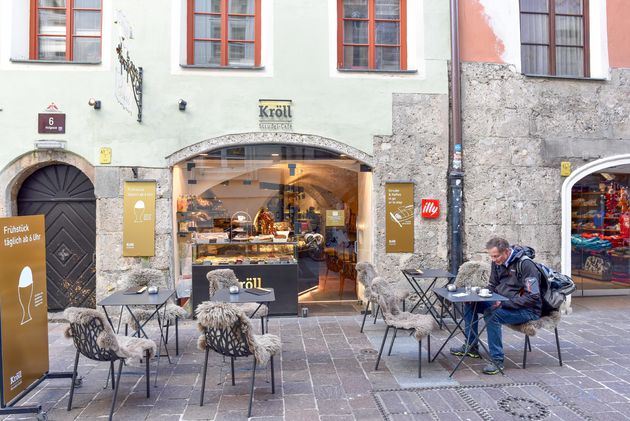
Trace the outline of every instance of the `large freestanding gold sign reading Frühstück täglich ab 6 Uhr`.
{"type": "Polygon", "coordinates": [[[48,372],[43,215],[0,218],[2,404],[48,372]]]}

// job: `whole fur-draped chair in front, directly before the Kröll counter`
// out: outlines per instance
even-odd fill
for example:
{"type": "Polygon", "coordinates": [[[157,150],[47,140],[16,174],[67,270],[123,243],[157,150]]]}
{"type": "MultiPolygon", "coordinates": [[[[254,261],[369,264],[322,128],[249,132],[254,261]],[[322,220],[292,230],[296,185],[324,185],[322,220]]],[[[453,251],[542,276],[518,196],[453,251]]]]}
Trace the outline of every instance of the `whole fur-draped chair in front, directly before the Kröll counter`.
{"type": "Polygon", "coordinates": [[[235,383],[234,359],[254,356],[247,414],[248,417],[251,417],[257,364],[270,363],[271,393],[276,393],[273,356],[280,352],[280,338],[270,334],[254,335],[251,320],[241,307],[234,304],[206,301],[197,306],[196,315],[199,322],[199,330],[202,332],[197,341],[197,346],[206,353],[199,405],[203,406],[206,373],[208,371],[208,353],[211,349],[223,356],[230,357],[233,385],[235,383]]]}

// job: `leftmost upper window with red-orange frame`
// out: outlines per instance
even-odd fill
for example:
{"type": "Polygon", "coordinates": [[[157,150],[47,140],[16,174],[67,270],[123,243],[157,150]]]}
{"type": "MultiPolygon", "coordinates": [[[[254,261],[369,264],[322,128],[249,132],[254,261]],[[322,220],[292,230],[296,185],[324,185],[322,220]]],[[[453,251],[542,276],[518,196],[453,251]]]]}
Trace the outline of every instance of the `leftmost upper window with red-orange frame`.
{"type": "Polygon", "coordinates": [[[98,63],[101,0],[31,0],[29,58],[98,63]]]}

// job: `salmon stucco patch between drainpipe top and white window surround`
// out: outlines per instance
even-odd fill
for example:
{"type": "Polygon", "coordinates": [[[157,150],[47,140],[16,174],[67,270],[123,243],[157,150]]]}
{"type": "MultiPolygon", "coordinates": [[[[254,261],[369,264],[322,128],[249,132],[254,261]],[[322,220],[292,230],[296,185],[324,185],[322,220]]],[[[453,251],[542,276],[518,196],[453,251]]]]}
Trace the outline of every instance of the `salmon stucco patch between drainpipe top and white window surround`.
{"type": "Polygon", "coordinates": [[[490,27],[488,17],[479,0],[460,0],[459,30],[462,61],[503,63],[501,54],[505,46],[490,27]]]}

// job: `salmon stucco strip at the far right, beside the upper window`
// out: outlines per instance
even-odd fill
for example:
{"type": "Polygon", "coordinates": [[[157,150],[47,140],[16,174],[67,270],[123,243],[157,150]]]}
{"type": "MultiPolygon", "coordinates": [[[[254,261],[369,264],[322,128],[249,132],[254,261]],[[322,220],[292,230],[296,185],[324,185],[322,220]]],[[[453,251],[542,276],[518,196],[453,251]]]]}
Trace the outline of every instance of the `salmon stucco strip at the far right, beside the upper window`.
{"type": "Polygon", "coordinates": [[[606,7],[610,67],[630,67],[630,1],[608,0],[606,7]]]}

